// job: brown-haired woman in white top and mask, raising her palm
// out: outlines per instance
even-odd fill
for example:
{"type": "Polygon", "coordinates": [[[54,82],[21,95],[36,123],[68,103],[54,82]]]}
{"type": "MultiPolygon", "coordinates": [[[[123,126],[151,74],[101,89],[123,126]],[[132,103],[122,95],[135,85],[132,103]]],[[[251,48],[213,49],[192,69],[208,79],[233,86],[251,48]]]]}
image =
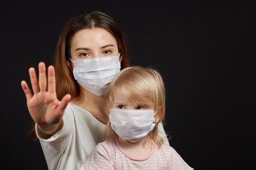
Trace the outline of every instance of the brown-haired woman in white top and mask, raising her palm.
{"type": "Polygon", "coordinates": [[[48,80],[43,62],[38,79],[28,70],[33,94],[26,81],[21,86],[48,169],[79,169],[103,140],[109,113],[102,95],[128,66],[124,35],[105,13],[80,13],[61,31],[54,65],[48,80]]]}

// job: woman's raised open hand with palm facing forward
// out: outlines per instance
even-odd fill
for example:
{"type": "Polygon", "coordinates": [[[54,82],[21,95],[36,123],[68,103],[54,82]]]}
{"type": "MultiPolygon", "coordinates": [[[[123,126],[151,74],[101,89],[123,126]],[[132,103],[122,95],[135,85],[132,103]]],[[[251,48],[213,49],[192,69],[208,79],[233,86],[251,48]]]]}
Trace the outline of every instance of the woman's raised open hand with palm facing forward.
{"type": "Polygon", "coordinates": [[[26,81],[21,81],[21,87],[26,94],[31,117],[44,134],[53,135],[62,123],[63,114],[71,96],[66,94],[61,101],[58,101],[53,66],[48,67],[48,81],[46,79],[46,64],[40,62],[38,70],[39,77],[37,79],[35,69],[33,67],[28,69],[33,94],[26,81]]]}

